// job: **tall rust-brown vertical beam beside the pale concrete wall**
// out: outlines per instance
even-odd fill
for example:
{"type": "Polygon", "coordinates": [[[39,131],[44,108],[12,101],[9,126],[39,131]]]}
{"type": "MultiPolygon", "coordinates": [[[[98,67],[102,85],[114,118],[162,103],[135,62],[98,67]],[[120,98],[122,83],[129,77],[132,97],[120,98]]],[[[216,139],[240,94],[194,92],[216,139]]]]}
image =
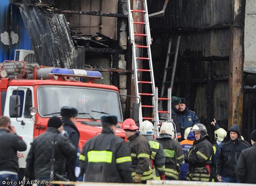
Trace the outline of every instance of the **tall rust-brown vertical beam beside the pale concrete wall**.
{"type": "Polygon", "coordinates": [[[243,123],[245,0],[230,1],[228,128],[243,123]]]}

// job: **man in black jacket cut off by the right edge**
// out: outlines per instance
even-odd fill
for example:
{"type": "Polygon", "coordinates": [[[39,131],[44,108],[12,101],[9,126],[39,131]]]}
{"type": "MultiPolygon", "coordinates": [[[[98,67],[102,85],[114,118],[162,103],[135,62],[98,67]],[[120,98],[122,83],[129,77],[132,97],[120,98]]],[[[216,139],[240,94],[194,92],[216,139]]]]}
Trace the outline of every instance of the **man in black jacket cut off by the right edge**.
{"type": "Polygon", "coordinates": [[[252,147],[242,151],[236,164],[239,183],[256,183],[256,130],[251,135],[252,147]]]}

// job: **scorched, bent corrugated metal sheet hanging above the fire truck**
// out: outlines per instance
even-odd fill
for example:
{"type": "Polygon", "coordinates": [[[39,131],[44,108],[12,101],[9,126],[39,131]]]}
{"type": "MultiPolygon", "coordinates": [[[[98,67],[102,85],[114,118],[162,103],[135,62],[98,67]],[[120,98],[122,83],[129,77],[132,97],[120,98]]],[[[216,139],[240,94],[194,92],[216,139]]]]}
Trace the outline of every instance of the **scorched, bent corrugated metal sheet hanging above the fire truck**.
{"type": "Polygon", "coordinates": [[[47,7],[16,5],[19,6],[38,63],[60,67],[74,66],[78,54],[65,16],[60,12],[47,10],[47,7]]]}

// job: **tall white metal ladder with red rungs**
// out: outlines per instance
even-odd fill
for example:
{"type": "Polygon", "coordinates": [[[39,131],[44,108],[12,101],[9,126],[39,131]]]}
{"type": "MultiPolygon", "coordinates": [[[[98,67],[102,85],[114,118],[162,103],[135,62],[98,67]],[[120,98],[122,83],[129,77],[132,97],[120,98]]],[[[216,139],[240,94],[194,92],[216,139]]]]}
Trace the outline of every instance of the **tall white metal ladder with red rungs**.
{"type": "MultiPolygon", "coordinates": [[[[132,61],[134,65],[134,79],[135,79],[135,93],[137,98],[137,103],[140,103],[140,100],[143,103],[143,100],[148,100],[151,97],[150,105],[140,105],[139,109],[139,123],[143,120],[158,120],[158,113],[157,108],[154,106],[155,100],[155,80],[154,80],[154,72],[153,72],[153,64],[152,64],[152,57],[151,57],[151,49],[150,45],[151,35],[150,35],[150,27],[149,27],[149,19],[148,19],[148,8],[147,8],[147,1],[146,0],[127,0],[128,6],[128,18],[129,18],[129,32],[130,32],[130,43],[132,45],[132,61]],[[141,3],[140,10],[132,10],[131,9],[131,1],[133,4],[138,6],[141,3]],[[135,20],[135,21],[134,21],[135,20]],[[134,29],[135,28],[135,29],[134,29]],[[145,33],[143,32],[145,31],[145,33]],[[146,46],[141,44],[143,39],[146,39],[146,46]],[[138,51],[147,49],[147,56],[140,56],[143,53],[138,51]],[[142,64],[143,63],[143,64],[142,64]],[[148,63],[148,64],[146,64],[148,63]],[[148,66],[147,69],[143,69],[143,66],[148,66]],[[150,75],[150,81],[141,81],[143,77],[147,77],[150,75]],[[148,88],[150,87],[151,88],[148,88]],[[141,87],[147,87],[144,90],[148,92],[142,92],[140,89],[141,87]],[[139,89],[140,88],[140,89],[139,89]],[[142,111],[143,109],[143,111],[142,111]],[[150,112],[146,112],[150,109],[150,112]],[[148,116],[146,114],[148,114],[148,116]],[[145,115],[142,115],[145,114],[145,115]],[[154,117],[152,115],[154,114],[154,117]]],[[[140,6],[138,6],[140,7],[140,6]]]]}

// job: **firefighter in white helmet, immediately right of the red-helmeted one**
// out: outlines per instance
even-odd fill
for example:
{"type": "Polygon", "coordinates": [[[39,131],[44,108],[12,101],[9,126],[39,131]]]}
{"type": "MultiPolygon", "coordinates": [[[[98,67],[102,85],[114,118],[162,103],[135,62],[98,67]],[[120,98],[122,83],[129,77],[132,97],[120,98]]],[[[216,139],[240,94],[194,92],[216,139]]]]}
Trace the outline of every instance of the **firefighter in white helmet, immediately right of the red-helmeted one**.
{"type": "Polygon", "coordinates": [[[163,146],[154,139],[154,125],[145,120],[140,124],[140,134],[147,138],[150,145],[150,158],[153,162],[153,179],[165,180],[164,150],[163,146]]]}

